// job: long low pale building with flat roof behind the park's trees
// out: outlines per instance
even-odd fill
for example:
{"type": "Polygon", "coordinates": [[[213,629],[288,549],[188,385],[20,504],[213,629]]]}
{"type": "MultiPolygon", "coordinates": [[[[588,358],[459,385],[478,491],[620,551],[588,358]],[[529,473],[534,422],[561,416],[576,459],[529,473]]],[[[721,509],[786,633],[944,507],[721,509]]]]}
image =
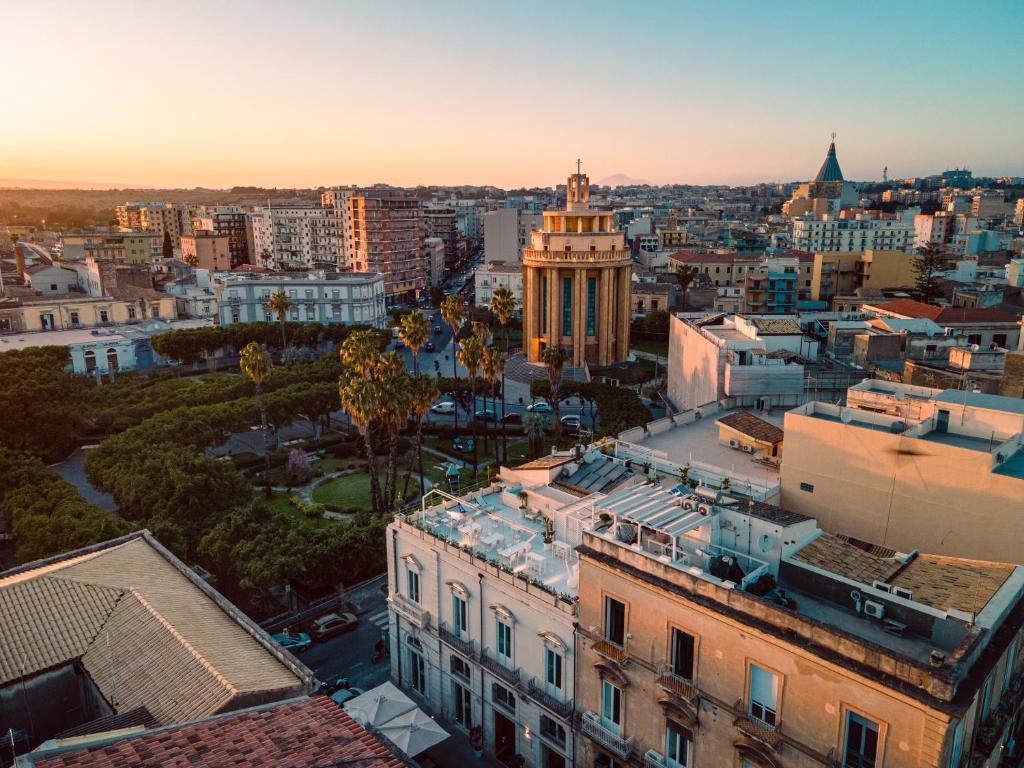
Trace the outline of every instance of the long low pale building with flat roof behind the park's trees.
{"type": "Polygon", "coordinates": [[[383,328],[384,278],[377,272],[308,274],[222,274],[216,282],[220,325],[273,323],[267,302],[284,291],[292,300],[292,323],[345,323],[383,328]]]}

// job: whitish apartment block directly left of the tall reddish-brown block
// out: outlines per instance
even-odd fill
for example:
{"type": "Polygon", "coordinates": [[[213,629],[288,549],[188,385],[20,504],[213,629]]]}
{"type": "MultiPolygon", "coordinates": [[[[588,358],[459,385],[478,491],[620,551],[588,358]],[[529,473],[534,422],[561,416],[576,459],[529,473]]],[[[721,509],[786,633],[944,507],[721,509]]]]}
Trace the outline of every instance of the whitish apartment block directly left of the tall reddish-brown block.
{"type": "Polygon", "coordinates": [[[276,269],[351,265],[347,190],[328,189],[321,205],[264,206],[248,216],[255,263],[276,269]]]}

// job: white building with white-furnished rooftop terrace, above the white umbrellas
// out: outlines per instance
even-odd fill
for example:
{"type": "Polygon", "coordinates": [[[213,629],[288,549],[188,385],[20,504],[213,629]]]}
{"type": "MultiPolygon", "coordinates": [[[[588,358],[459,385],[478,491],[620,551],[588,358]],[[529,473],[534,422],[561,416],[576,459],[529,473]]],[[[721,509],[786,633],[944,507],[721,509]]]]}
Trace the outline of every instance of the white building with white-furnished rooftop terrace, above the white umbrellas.
{"type": "Polygon", "coordinates": [[[548,456],[388,526],[391,679],[499,759],[572,763],[575,547],[591,494],[642,482],[622,460],[548,456]],[[546,534],[546,531],[549,531],[546,534]],[[546,543],[545,539],[549,542],[546,543]]]}

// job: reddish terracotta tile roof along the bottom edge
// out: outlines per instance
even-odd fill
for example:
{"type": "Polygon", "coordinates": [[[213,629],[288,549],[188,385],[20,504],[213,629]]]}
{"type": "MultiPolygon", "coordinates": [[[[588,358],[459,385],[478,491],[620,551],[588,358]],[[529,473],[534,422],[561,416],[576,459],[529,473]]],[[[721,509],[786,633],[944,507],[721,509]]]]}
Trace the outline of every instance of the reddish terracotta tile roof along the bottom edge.
{"type": "Polygon", "coordinates": [[[283,701],[84,748],[23,756],[26,768],[359,768],[404,763],[326,696],[283,701]]]}

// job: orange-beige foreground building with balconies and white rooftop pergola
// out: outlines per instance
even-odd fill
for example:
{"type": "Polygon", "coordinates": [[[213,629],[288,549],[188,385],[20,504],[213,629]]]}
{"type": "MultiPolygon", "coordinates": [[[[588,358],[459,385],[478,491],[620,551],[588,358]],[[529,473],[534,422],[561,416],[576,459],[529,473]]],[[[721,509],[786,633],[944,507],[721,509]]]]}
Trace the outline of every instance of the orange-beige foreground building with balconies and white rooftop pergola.
{"type": "Polygon", "coordinates": [[[682,487],[593,504],[577,765],[1001,765],[1024,567],[879,547],[682,487]]]}

